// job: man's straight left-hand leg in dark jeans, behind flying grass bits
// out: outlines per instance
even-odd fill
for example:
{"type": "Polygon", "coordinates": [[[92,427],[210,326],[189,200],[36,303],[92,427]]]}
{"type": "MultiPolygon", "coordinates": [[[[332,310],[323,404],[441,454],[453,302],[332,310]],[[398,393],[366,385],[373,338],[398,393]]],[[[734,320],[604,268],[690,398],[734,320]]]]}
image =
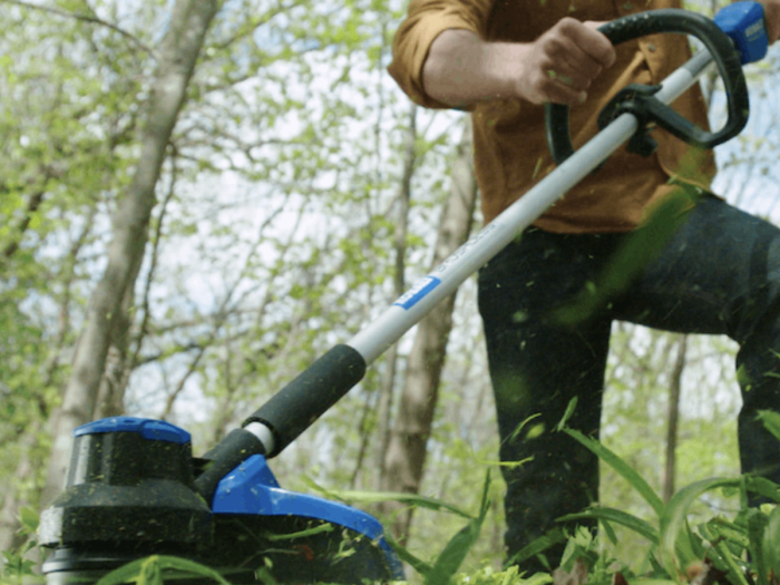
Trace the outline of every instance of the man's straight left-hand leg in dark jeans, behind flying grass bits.
{"type": "MultiPolygon", "coordinates": [[[[615,236],[526,232],[479,274],[479,309],[487,339],[500,458],[507,482],[509,558],[559,526],[555,519],[598,498],[598,460],[554,427],[569,401],[568,425],[597,437],[608,349],[608,318],[560,326],[550,312],[595,280],[615,236]]],[[[563,545],[546,553],[552,568],[563,545]]],[[[529,573],[545,567],[534,558],[529,573]]]]}

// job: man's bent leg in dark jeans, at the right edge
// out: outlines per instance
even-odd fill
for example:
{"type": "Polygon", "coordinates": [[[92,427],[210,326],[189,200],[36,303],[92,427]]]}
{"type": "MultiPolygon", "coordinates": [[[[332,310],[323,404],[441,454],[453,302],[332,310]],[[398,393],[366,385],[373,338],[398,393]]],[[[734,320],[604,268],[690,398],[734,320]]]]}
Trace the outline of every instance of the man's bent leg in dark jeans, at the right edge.
{"type": "Polygon", "coordinates": [[[780,228],[703,198],[613,316],[734,339],[742,471],[780,484],[780,442],[758,419],[759,410],[780,411],[780,228]]]}

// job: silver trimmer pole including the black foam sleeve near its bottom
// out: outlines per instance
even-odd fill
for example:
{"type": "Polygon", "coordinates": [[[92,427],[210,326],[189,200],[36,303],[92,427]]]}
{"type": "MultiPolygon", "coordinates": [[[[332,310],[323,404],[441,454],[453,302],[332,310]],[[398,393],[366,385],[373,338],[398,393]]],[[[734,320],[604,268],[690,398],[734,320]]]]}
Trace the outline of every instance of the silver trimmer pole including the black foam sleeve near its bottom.
{"type": "MultiPolygon", "coordinates": [[[[710,61],[708,52],[698,55],[664,80],[662,89],[655,94],[656,98],[664,104],[676,99],[695,82],[710,61]]],[[[504,248],[556,199],[563,197],[569,188],[612,155],[621,144],[631,138],[636,126],[637,121],[633,115],[620,116],[499,217],[460,246],[441,265],[420,280],[348,344],[332,348],[311,368],[291,381],[247,419],[243,430],[260,439],[266,456],[273,457],[283,450],[321,412],[326,410],[331,402],[338,400],[362,378],[362,372],[368,364],[504,248]],[[310,392],[314,389],[319,390],[316,398],[312,399],[310,392]],[[304,415],[302,416],[301,412],[304,415]]],[[[230,457],[233,457],[232,452],[230,457]]],[[[211,481],[218,476],[218,474],[212,474],[214,477],[211,479],[203,479],[205,475],[198,478],[198,481],[204,485],[207,482],[206,479],[211,481]]]]}

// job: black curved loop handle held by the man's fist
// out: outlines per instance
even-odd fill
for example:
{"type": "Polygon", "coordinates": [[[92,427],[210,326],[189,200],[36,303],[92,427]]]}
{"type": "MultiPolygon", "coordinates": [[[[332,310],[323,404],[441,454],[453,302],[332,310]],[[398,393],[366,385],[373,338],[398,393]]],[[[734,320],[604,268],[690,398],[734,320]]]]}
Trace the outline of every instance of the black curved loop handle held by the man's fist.
{"type": "MultiPolygon", "coordinates": [[[[680,129],[673,134],[696,146],[712,148],[733,138],[744,128],[748,123],[750,100],[740,56],[729,36],[709,18],[674,8],[649,10],[602,25],[598,31],[603,32],[613,45],[659,32],[693,35],[704,43],[718,65],[729,99],[729,119],[716,133],[705,131],[691,125],[691,128],[680,129]]],[[[671,108],[669,109],[671,113],[671,108]]],[[[673,116],[670,114],[669,118],[673,119],[673,116]]],[[[546,104],[545,125],[547,146],[553,159],[559,165],[574,154],[568,125],[568,106],[546,104]]]]}

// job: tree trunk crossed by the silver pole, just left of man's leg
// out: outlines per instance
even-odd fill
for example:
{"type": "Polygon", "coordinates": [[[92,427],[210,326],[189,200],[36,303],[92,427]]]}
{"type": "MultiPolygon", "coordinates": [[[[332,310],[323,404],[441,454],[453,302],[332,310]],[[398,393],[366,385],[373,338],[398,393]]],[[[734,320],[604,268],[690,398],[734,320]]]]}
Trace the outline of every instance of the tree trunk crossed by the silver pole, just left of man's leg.
{"type": "MultiPolygon", "coordinates": [[[[477,182],[471,155],[471,127],[467,120],[464,138],[452,167],[450,195],[445,204],[433,255],[433,265],[440,264],[468,238],[477,199],[477,182]]],[[[419,324],[407,367],[407,377],[399,412],[390,432],[384,455],[386,482],[389,491],[417,494],[422,481],[426,447],[430,437],[433,412],[439,391],[439,379],[445,364],[447,341],[452,329],[455,294],[439,303],[419,324]]],[[[401,505],[388,503],[383,513],[393,514],[401,505]]],[[[406,540],[412,510],[394,514],[392,533],[406,540]]]]}

